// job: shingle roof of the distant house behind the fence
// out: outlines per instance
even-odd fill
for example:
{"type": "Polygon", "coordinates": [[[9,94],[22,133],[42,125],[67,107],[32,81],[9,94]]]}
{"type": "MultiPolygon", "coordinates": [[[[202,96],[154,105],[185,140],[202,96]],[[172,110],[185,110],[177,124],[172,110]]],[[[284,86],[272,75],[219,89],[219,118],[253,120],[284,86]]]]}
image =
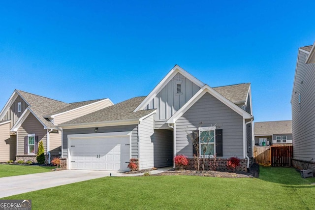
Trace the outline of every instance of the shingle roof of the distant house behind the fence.
{"type": "Polygon", "coordinates": [[[266,121],[254,123],[254,134],[291,134],[292,120],[266,121]]]}

